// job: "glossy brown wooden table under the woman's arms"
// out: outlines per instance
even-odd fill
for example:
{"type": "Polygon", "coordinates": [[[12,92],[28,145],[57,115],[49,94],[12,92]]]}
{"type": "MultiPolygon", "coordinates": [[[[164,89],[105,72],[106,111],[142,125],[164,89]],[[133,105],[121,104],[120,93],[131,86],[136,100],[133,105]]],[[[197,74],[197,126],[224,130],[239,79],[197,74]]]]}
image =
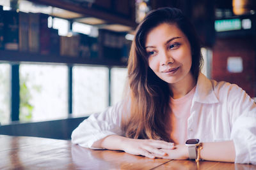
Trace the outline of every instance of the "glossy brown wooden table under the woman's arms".
{"type": "Polygon", "coordinates": [[[256,169],[250,164],[148,159],[110,150],[90,150],[71,141],[0,135],[0,169],[256,169]]]}

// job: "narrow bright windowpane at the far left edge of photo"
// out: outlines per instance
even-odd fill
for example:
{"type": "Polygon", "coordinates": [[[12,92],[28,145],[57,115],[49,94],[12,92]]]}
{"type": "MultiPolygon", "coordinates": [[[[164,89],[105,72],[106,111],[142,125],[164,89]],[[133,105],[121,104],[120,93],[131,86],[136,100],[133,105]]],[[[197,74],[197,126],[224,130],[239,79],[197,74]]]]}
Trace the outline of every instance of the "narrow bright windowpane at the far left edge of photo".
{"type": "Polygon", "coordinates": [[[10,121],[10,64],[0,64],[0,123],[10,121]]]}

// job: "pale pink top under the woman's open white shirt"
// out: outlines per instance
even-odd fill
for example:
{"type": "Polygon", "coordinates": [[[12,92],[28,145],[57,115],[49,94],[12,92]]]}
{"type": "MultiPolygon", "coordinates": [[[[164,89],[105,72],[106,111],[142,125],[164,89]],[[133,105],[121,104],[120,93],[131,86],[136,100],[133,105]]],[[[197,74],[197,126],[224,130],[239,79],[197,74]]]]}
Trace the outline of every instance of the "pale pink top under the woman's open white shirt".
{"type": "Polygon", "coordinates": [[[179,99],[171,97],[171,115],[169,134],[175,144],[185,144],[188,139],[188,118],[190,116],[190,108],[192,99],[195,94],[196,86],[188,93],[179,99]]]}

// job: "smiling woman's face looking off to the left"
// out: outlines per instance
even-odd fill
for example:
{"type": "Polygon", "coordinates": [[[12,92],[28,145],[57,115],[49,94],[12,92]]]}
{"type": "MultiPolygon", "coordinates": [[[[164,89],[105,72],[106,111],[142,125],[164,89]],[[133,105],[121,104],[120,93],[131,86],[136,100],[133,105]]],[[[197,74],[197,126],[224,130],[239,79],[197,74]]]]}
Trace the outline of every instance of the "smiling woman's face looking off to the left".
{"type": "Polygon", "coordinates": [[[145,49],[149,67],[162,80],[175,84],[191,79],[190,43],[175,24],[164,23],[148,32],[145,49]]]}

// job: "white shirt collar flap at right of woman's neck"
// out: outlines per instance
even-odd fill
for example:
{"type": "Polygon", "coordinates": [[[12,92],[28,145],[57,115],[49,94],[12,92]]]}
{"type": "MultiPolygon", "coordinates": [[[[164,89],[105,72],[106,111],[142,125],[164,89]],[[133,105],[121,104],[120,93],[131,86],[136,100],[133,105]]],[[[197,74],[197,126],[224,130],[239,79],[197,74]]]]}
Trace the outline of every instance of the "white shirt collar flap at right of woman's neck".
{"type": "Polygon", "coordinates": [[[202,73],[199,73],[198,75],[193,101],[208,104],[220,102],[216,97],[211,80],[202,73]]]}

